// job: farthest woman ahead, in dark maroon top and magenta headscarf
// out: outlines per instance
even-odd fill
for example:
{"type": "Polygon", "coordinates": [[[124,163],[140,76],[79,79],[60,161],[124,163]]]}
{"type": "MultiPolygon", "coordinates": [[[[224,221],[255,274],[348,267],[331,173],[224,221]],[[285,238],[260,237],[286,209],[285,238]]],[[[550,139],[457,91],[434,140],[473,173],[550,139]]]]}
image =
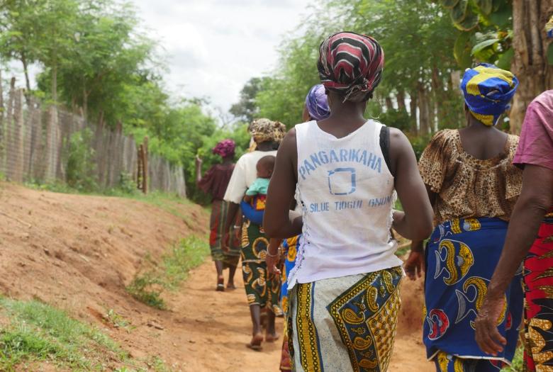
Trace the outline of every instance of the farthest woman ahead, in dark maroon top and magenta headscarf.
{"type": "Polygon", "coordinates": [[[235,142],[233,140],[222,140],[213,148],[213,154],[218,154],[222,162],[215,164],[201,176],[200,157],[196,157],[196,184],[204,193],[211,194],[211,218],[209,222],[209,248],[211,249],[211,259],[215,262],[217,270],[217,291],[224,291],[223,269],[228,268],[227,288],[234,289],[234,275],[236,266],[240,260],[240,242],[238,239],[232,239],[229,244],[230,249],[223,252],[223,227],[227,218],[228,203],[223,201],[230,176],[234,169],[234,150],[235,142]]]}

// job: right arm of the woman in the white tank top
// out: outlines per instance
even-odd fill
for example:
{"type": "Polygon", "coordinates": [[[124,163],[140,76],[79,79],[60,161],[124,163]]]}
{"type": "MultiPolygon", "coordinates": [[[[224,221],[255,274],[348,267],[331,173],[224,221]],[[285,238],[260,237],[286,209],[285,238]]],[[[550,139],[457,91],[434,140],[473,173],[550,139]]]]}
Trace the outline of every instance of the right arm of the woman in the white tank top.
{"type": "Polygon", "coordinates": [[[432,206],[413,147],[401,130],[390,128],[390,150],[395,187],[403,206],[403,212],[393,215],[393,228],[403,237],[423,240],[432,232],[432,206]]]}

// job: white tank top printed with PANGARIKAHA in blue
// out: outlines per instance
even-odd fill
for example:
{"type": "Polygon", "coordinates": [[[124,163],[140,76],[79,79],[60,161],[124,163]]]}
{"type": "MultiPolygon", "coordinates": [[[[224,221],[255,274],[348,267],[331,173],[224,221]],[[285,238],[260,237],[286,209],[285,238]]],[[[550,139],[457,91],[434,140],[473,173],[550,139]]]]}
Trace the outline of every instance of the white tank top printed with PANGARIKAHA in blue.
{"type": "Polygon", "coordinates": [[[380,147],[383,125],[367,120],[346,137],[316,121],[296,125],[303,236],[289,288],[399,266],[391,239],[396,199],[380,147]]]}

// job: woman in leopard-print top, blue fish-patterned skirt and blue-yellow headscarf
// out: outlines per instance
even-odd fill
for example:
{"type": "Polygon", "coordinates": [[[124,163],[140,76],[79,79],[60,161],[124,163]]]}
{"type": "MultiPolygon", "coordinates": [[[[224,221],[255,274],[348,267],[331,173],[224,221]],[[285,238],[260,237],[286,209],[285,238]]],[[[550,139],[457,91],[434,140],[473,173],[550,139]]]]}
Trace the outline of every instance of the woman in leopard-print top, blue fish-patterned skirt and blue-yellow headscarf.
{"type": "MultiPolygon", "coordinates": [[[[491,64],[465,72],[467,128],[441,130],[420,157],[420,174],[435,212],[435,229],[423,255],[413,242],[410,278],[425,261],[427,357],[438,372],[497,371],[515,353],[522,320],[520,273],[503,293],[497,322],[508,345],[488,356],[474,341],[474,320],[503,249],[522,174],[511,164],[518,137],[496,128],[518,86],[516,77],[491,64]]],[[[418,271],[418,273],[417,273],[418,271]]]]}

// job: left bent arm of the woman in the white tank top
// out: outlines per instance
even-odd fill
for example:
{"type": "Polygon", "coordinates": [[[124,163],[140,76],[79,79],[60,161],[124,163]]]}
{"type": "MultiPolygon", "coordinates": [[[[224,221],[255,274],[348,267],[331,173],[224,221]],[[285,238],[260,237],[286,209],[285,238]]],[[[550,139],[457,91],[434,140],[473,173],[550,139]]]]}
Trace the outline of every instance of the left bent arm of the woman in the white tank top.
{"type": "Polygon", "coordinates": [[[272,182],[267,191],[263,228],[269,237],[284,239],[301,234],[301,215],[289,210],[296,192],[297,164],[296,130],[293,128],[279,147],[272,182]]]}

